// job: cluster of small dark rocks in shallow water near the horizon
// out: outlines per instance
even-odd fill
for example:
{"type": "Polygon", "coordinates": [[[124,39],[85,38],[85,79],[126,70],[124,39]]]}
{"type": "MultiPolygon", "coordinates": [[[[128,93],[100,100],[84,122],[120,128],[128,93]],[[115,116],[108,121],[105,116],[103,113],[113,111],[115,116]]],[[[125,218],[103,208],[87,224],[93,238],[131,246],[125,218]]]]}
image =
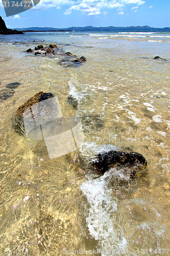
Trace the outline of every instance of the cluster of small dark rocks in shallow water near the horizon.
{"type": "Polygon", "coordinates": [[[45,47],[43,45],[38,45],[34,50],[31,48],[27,49],[27,52],[34,53],[35,55],[58,55],[59,57],[62,57],[62,59],[59,60],[59,65],[63,65],[65,67],[74,66],[74,64],[80,65],[82,62],[86,61],[84,56],[76,58],[76,55],[73,55],[70,52],[64,52],[55,44],[50,44],[50,46],[45,47]]]}

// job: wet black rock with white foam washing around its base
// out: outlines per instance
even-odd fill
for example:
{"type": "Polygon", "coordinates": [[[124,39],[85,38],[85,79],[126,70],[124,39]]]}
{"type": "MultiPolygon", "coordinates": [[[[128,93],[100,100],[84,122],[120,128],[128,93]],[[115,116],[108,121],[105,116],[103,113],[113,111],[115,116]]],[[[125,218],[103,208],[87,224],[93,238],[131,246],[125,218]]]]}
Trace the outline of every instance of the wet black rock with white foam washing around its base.
{"type": "MultiPolygon", "coordinates": [[[[117,165],[146,167],[147,160],[136,152],[109,151],[98,154],[93,159],[93,165],[104,174],[109,168],[117,165]]],[[[134,174],[131,174],[131,176],[134,174]]]]}

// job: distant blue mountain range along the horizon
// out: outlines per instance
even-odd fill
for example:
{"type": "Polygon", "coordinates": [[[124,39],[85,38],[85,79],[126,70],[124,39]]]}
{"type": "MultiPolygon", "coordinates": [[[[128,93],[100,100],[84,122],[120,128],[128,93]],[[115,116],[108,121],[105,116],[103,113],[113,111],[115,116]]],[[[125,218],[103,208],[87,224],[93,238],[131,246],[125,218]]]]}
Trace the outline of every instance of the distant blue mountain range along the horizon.
{"type": "Polygon", "coordinates": [[[170,28],[153,28],[149,26],[132,26],[132,27],[92,27],[92,26],[87,26],[87,27],[70,27],[70,28],[52,28],[52,27],[31,27],[31,28],[16,28],[19,31],[169,31],[170,28]]]}

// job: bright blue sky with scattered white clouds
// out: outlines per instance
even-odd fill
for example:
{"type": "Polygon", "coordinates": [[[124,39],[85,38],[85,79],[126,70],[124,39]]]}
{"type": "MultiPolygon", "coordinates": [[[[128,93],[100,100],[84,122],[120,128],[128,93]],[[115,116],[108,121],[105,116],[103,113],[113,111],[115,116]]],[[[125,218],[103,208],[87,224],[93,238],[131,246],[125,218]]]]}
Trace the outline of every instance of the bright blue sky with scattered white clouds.
{"type": "Polygon", "coordinates": [[[41,0],[33,8],[9,17],[0,0],[0,15],[7,28],[164,28],[170,27],[170,0],[41,0]]]}

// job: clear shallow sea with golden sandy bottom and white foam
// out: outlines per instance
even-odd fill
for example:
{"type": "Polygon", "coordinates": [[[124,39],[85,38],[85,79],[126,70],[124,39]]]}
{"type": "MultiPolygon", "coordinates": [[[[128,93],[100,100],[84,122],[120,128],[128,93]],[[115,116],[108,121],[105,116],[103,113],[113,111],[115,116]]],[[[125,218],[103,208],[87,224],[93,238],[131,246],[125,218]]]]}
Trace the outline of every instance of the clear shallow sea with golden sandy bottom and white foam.
{"type": "Polygon", "coordinates": [[[19,84],[0,99],[1,255],[170,255],[169,43],[160,31],[0,35],[0,91],[19,84]],[[50,43],[87,60],[26,52],[50,43]],[[82,143],[60,157],[14,131],[17,109],[40,91],[81,120],[82,143]],[[92,158],[115,148],[147,168],[100,176],[92,158]]]}

